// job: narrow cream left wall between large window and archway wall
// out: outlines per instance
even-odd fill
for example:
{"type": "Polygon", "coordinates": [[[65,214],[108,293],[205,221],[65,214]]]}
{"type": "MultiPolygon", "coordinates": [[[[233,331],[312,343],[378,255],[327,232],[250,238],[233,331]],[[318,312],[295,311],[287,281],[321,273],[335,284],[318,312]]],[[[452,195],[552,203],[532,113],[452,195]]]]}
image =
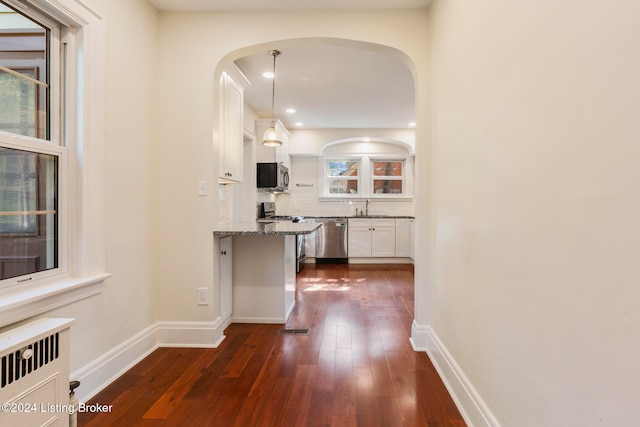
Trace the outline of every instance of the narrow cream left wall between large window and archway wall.
{"type": "Polygon", "coordinates": [[[152,108],[157,91],[153,78],[156,11],[141,0],[86,4],[105,19],[107,31],[103,196],[106,269],[112,277],[101,294],[42,315],[77,320],[71,328],[71,373],[74,379],[83,380],[80,398],[114,374],[99,367],[109,363],[117,347],[155,320],[150,223],[155,212],[151,169],[156,126],[152,108]]]}

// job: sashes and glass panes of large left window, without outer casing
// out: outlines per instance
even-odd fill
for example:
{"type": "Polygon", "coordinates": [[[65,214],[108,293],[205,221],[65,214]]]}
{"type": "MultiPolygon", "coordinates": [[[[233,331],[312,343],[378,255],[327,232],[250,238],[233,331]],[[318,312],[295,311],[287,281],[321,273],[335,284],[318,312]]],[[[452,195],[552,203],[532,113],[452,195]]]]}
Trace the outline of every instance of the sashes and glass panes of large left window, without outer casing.
{"type": "Polygon", "coordinates": [[[61,31],[29,10],[0,3],[0,280],[60,266],[61,31]]]}

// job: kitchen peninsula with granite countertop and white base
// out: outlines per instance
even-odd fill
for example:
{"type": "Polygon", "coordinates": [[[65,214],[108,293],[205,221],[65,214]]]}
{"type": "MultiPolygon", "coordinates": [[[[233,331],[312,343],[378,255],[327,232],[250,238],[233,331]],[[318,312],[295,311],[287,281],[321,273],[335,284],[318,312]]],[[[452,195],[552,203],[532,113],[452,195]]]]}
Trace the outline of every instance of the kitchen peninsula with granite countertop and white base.
{"type": "Polygon", "coordinates": [[[214,230],[220,241],[232,239],[233,255],[221,250],[220,258],[220,270],[230,270],[229,277],[221,274],[220,287],[222,304],[232,307],[231,322],[286,323],[295,305],[296,235],[320,227],[290,221],[232,222],[214,230]]]}

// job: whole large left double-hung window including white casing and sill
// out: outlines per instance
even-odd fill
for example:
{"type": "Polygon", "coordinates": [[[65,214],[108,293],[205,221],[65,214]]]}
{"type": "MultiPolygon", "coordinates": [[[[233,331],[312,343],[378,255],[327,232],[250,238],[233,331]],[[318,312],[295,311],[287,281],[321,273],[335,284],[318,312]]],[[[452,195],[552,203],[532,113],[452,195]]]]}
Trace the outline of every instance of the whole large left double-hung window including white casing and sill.
{"type": "Polygon", "coordinates": [[[109,277],[105,34],[84,0],[0,0],[0,326],[109,277]]]}

